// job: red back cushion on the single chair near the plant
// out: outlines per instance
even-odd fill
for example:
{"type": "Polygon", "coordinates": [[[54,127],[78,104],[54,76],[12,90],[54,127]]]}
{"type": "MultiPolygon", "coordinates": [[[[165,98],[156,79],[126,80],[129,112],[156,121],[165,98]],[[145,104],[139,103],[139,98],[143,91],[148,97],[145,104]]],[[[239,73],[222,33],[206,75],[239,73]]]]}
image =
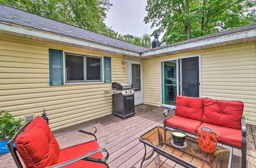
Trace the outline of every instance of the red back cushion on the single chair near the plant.
{"type": "Polygon", "coordinates": [[[15,143],[26,167],[47,167],[57,163],[59,145],[46,121],[40,116],[18,135],[15,143]]]}

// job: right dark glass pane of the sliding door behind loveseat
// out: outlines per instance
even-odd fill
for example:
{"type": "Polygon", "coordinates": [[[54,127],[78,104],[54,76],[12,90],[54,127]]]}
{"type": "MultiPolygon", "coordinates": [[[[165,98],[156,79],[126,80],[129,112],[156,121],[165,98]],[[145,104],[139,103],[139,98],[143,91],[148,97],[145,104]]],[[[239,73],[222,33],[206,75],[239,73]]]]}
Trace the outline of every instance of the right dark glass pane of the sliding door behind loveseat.
{"type": "Polygon", "coordinates": [[[198,57],[181,59],[182,96],[199,97],[198,57]]]}

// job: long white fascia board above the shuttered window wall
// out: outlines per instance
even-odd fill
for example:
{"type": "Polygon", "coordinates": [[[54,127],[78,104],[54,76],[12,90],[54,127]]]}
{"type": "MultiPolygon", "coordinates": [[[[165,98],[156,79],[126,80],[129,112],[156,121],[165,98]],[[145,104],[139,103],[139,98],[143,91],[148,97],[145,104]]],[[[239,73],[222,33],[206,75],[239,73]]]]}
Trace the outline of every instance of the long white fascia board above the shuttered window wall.
{"type": "Polygon", "coordinates": [[[86,47],[108,50],[108,51],[122,53],[122,54],[126,54],[126,55],[132,55],[133,57],[140,57],[140,53],[136,52],[136,51],[129,51],[129,50],[111,47],[108,45],[103,45],[103,44],[99,44],[99,43],[95,43],[95,42],[89,42],[86,40],[76,39],[76,38],[68,37],[65,35],[48,33],[46,31],[39,31],[39,30],[30,28],[30,27],[24,27],[24,26],[21,27],[21,26],[14,25],[14,24],[12,24],[12,25],[5,24],[2,22],[2,23],[0,23],[0,30],[25,34],[25,35],[55,40],[55,41],[61,41],[61,42],[66,42],[66,43],[71,43],[71,44],[77,44],[77,45],[82,45],[82,46],[86,46],[86,47]]]}

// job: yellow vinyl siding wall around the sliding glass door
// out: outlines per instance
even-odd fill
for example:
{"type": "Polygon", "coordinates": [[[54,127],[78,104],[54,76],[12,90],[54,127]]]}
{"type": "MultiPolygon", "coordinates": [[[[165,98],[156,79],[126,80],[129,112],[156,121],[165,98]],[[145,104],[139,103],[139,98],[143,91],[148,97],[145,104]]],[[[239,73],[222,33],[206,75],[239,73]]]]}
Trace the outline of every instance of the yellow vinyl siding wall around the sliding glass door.
{"type": "Polygon", "coordinates": [[[255,44],[253,42],[144,60],[144,102],[161,105],[161,60],[200,54],[202,97],[244,102],[246,122],[256,125],[255,44]]]}

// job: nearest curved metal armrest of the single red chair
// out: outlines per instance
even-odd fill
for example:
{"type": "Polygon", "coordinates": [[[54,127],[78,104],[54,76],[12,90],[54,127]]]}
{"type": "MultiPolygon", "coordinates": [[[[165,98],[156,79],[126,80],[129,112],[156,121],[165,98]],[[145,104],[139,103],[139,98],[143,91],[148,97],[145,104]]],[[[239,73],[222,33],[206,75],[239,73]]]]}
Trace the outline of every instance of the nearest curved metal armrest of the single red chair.
{"type": "Polygon", "coordinates": [[[65,161],[63,163],[59,163],[59,164],[55,164],[55,165],[52,165],[52,166],[49,166],[47,168],[57,168],[57,167],[62,167],[62,166],[65,166],[65,165],[69,165],[71,163],[74,163],[76,161],[79,161],[79,160],[88,160],[88,161],[94,161],[94,162],[98,162],[98,163],[105,163],[106,160],[108,160],[109,158],[109,152],[106,150],[106,149],[96,149],[92,152],[89,152],[87,154],[84,154],[84,155],[81,155],[79,157],[76,157],[74,159],[71,159],[71,160],[68,160],[68,161],[65,161]],[[93,157],[89,157],[95,153],[98,153],[98,152],[106,152],[106,156],[102,159],[102,158],[93,158],[93,157]],[[93,159],[91,159],[93,158],[93,159]]]}

